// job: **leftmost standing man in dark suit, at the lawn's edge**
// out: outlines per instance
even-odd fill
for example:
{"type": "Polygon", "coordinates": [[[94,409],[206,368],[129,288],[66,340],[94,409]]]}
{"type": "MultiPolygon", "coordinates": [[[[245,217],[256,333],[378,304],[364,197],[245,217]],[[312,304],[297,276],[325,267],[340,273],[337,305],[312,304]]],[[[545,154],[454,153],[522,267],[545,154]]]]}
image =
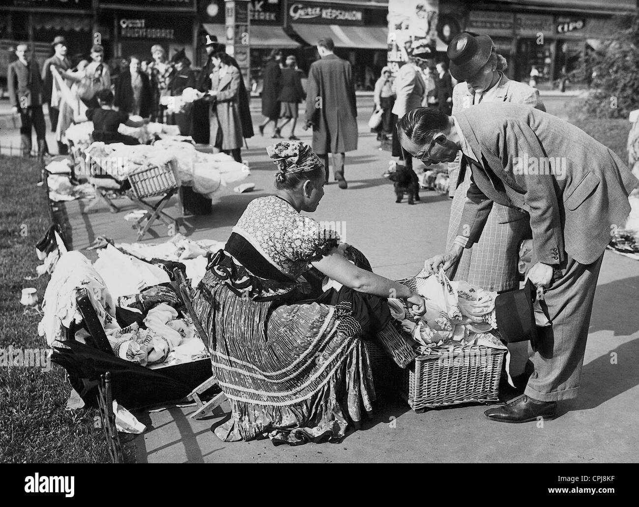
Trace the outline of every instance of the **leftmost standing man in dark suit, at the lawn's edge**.
{"type": "Polygon", "coordinates": [[[31,154],[31,127],[36,131],[38,157],[47,152],[47,127],[42,113],[42,77],[38,62],[29,58],[29,46],[18,44],[16,61],[7,69],[9,100],[13,113],[20,113],[20,150],[23,157],[31,154]]]}

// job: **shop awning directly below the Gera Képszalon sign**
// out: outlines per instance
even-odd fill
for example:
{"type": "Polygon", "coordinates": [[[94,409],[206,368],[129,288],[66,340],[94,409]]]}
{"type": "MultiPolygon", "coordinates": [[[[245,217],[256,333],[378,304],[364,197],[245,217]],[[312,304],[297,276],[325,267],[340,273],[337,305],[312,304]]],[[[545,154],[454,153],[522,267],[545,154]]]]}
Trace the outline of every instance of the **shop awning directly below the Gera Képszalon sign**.
{"type": "Polygon", "coordinates": [[[385,26],[339,26],[293,23],[293,29],[309,45],[330,37],[337,47],[387,49],[389,29],[385,26]]]}

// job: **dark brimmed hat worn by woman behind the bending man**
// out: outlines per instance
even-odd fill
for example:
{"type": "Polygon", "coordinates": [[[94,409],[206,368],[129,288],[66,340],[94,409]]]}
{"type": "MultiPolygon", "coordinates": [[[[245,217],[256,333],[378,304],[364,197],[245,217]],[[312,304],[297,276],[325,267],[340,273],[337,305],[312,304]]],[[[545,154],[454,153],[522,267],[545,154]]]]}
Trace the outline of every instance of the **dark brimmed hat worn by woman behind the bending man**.
{"type": "Polygon", "coordinates": [[[450,74],[457,81],[466,81],[486,65],[493,51],[493,40],[488,35],[462,32],[450,41],[446,54],[450,59],[450,74]]]}

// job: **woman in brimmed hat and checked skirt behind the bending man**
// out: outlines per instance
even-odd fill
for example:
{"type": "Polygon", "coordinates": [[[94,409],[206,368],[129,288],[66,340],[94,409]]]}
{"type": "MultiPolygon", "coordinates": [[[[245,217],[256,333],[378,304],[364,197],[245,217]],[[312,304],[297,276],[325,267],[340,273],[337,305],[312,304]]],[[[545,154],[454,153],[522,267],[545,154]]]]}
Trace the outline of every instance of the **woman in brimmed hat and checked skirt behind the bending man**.
{"type": "MultiPolygon", "coordinates": [[[[451,74],[458,81],[463,81],[452,92],[453,116],[475,104],[487,102],[515,102],[546,111],[539,91],[506,77],[505,59],[497,54],[489,36],[460,33],[450,42],[447,54],[451,74]],[[472,58],[469,60],[469,57],[472,58]]],[[[453,198],[446,241],[447,249],[450,249],[457,236],[466,192],[470,187],[470,169],[466,170],[461,153],[455,162],[448,164],[448,173],[449,192],[453,198]]],[[[515,290],[520,283],[519,247],[521,240],[526,238],[530,238],[528,215],[495,203],[481,242],[465,249],[458,265],[450,269],[448,275],[451,279],[466,280],[486,290],[515,290]]]]}

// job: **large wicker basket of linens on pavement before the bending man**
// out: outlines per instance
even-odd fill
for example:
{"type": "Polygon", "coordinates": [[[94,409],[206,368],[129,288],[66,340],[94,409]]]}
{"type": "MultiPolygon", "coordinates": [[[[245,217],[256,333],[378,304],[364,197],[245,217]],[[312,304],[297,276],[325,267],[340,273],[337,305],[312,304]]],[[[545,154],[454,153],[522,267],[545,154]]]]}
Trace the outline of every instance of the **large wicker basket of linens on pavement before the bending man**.
{"type": "Polygon", "coordinates": [[[404,398],[415,412],[496,402],[506,352],[473,345],[420,355],[405,373],[404,398]]]}

